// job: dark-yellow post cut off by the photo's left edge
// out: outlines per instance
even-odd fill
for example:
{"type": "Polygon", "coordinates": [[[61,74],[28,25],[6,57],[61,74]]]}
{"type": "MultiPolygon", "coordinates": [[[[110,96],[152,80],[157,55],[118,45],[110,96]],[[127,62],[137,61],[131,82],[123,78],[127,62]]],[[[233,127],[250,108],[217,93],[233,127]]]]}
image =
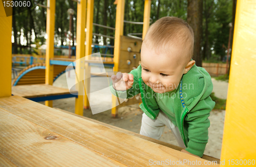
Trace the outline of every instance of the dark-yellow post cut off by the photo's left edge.
{"type": "Polygon", "coordinates": [[[6,17],[0,3],[0,97],[11,96],[12,82],[12,16],[6,17]]]}

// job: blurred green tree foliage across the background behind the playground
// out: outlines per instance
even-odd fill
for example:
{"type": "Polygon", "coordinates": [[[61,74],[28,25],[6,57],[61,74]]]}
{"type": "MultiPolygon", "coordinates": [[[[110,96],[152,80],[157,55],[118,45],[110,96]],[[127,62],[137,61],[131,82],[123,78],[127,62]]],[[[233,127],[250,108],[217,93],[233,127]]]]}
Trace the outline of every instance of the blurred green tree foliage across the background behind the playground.
{"type": "MultiPolygon", "coordinates": [[[[47,0],[37,0],[42,5],[47,5],[47,0]]],[[[94,23],[115,27],[116,22],[116,5],[115,0],[95,0],[94,1],[94,23]]],[[[55,45],[68,45],[67,35],[69,34],[68,9],[74,9],[73,15],[73,37],[76,36],[76,17],[77,3],[71,0],[57,0],[55,14],[55,45]]],[[[15,10],[15,9],[14,9],[15,10]]],[[[126,0],[124,9],[124,20],[143,22],[144,1],[126,0]]],[[[21,35],[24,36],[24,43],[32,44],[31,38],[36,35],[37,41],[40,44],[46,43],[46,12],[42,7],[35,7],[25,12],[16,14],[15,41],[18,45],[21,42],[21,35]]],[[[224,44],[227,47],[229,27],[228,23],[232,19],[232,0],[203,0],[203,38],[201,45],[203,60],[206,62],[219,62],[225,56],[224,44]]],[[[152,23],[164,16],[175,16],[187,19],[187,1],[180,0],[153,0],[151,1],[151,18],[152,23]]],[[[86,19],[86,18],[84,18],[86,19]]],[[[151,24],[152,24],[151,23],[151,24]]],[[[142,33],[143,25],[124,23],[123,34],[142,33]]],[[[105,29],[103,27],[93,26],[93,32],[108,36],[115,36],[115,31],[105,29]]],[[[139,36],[141,37],[141,36],[139,36]]],[[[114,45],[114,39],[106,39],[94,36],[94,43],[104,43],[114,45]]],[[[74,42],[73,42],[74,43],[74,42]]],[[[96,50],[105,52],[104,49],[96,50]]],[[[27,52],[27,51],[25,51],[27,52]]],[[[110,50],[108,51],[110,53],[110,50]]]]}

